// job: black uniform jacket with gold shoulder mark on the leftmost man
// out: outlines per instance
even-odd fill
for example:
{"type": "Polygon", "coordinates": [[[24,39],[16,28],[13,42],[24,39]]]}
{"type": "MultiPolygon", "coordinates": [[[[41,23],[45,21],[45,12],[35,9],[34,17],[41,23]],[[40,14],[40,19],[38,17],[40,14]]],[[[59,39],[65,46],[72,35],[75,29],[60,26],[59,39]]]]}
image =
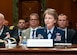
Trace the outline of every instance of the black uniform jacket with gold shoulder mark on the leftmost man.
{"type": "MultiPolygon", "coordinates": [[[[7,32],[10,33],[10,36],[12,38],[14,38],[16,40],[16,43],[17,43],[17,41],[19,40],[19,38],[18,38],[16,30],[10,30],[8,26],[4,26],[3,32],[0,35],[0,39],[4,40],[4,38],[7,36],[6,35],[7,32]]],[[[13,39],[11,39],[11,41],[13,41],[13,39]]]]}

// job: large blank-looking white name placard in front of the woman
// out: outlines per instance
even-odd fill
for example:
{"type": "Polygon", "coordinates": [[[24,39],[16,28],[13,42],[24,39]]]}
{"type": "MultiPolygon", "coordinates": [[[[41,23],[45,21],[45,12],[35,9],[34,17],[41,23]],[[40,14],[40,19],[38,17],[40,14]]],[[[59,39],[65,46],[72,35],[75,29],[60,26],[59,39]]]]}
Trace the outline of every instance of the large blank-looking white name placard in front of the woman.
{"type": "Polygon", "coordinates": [[[53,47],[53,39],[27,39],[27,47],[53,47]]]}

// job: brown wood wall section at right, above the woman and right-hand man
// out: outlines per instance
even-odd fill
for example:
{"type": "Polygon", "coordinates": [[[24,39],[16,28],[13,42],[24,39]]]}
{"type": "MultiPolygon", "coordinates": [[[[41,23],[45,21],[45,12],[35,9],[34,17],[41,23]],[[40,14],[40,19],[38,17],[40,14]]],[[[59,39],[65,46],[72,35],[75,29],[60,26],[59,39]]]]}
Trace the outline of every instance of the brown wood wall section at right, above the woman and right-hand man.
{"type": "Polygon", "coordinates": [[[47,8],[56,9],[58,14],[66,14],[73,27],[75,27],[77,22],[77,0],[75,2],[74,0],[46,0],[46,6],[47,8]]]}

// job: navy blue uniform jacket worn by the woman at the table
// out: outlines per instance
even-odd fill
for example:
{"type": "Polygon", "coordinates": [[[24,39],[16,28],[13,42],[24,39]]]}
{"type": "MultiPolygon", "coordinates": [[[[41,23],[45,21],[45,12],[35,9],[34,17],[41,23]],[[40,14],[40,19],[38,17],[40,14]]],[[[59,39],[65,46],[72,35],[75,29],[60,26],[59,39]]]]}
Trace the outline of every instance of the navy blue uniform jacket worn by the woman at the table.
{"type": "MultiPolygon", "coordinates": [[[[47,28],[46,27],[37,29],[36,37],[38,37],[39,34],[41,34],[44,39],[48,39],[48,37],[47,37],[47,28]]],[[[61,42],[61,43],[63,43],[63,42],[65,42],[65,37],[64,36],[65,36],[64,35],[64,31],[62,31],[62,30],[58,29],[57,27],[55,27],[51,39],[53,39],[54,42],[57,42],[57,43],[61,42]],[[56,38],[56,34],[57,33],[59,33],[60,36],[61,36],[61,40],[60,41],[55,41],[54,40],[56,38]]]]}

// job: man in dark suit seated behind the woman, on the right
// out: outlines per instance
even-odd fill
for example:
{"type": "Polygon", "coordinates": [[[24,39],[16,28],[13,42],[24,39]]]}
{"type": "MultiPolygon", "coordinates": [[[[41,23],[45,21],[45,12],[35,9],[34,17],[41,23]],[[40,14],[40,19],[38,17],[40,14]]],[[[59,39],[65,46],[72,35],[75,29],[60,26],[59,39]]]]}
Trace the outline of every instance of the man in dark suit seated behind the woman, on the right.
{"type": "Polygon", "coordinates": [[[75,30],[68,28],[68,19],[64,14],[60,14],[58,16],[58,28],[65,31],[65,42],[66,43],[74,43],[75,30]]]}

